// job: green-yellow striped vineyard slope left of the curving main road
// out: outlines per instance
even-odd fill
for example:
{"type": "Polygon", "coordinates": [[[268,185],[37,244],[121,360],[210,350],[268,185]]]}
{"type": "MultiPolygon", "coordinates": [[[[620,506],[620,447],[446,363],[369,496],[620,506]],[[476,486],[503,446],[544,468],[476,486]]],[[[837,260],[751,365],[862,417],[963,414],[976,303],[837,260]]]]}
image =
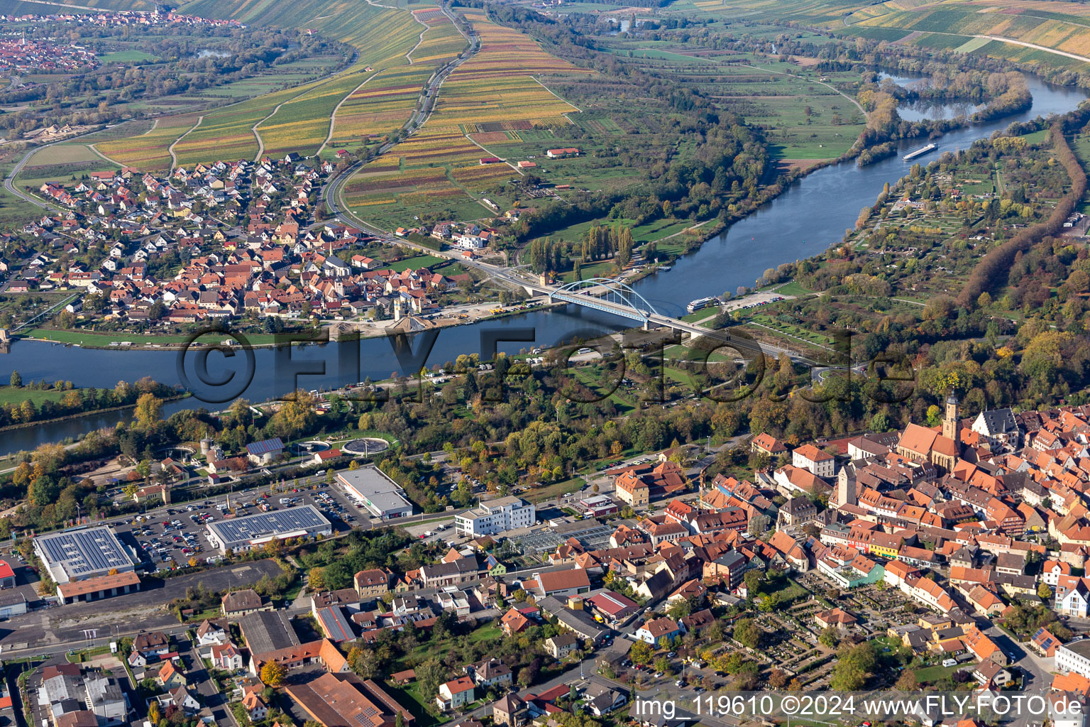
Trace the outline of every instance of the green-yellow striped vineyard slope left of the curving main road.
{"type": "Polygon", "coordinates": [[[304,0],[250,5],[196,0],[186,5],[185,12],[328,32],[354,45],[358,58],[331,77],[209,110],[195,129],[195,114],[178,114],[159,119],[147,136],[104,144],[102,153],[121,163],[169,169],[171,144],[177,163],[186,166],[217,159],[253,159],[259,152],[308,156],[326,149],[332,154],[327,140],[338,147],[365,144],[372,135],[399,129],[412,114],[420,87],[435,65],[457,56],[465,45],[441,13],[441,21],[426,24],[410,10],[367,3],[304,0]],[[407,54],[414,48],[419,56],[410,64],[407,54]]]}

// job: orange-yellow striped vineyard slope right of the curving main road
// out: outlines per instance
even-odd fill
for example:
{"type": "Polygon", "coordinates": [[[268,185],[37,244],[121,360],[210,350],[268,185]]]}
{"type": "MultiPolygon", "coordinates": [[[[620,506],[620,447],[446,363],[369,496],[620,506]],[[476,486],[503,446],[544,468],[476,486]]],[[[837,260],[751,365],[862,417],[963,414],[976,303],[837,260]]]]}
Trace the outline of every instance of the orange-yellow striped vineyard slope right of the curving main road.
{"type": "MultiPolygon", "coordinates": [[[[346,203],[367,221],[392,229],[417,215],[475,219],[495,214],[507,204],[497,185],[522,172],[504,162],[483,162],[492,154],[470,135],[567,125],[565,114],[579,111],[535,76],[586,71],[491,22],[482,10],[460,12],[480,35],[480,51],[447,77],[424,126],[344,186],[346,203]],[[485,195],[496,206],[484,202],[485,195]]],[[[433,24],[432,16],[427,22],[433,24]]],[[[437,44],[439,38],[434,36],[437,44]]],[[[424,50],[422,44],[413,58],[424,50]]]]}

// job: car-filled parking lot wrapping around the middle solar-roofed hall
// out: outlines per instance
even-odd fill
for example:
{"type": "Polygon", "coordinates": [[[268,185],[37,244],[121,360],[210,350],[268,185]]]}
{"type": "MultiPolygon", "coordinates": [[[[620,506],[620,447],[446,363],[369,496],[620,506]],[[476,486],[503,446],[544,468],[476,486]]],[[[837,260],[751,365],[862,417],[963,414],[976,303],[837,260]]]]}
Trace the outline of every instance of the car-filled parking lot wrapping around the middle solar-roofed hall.
{"type": "Polygon", "coordinates": [[[191,558],[215,562],[219,553],[208,543],[206,525],[231,517],[271,512],[302,505],[315,506],[329,519],[334,529],[371,528],[370,513],[361,502],[353,502],[336,484],[327,485],[314,476],[298,486],[261,488],[214,499],[160,507],[144,514],[99,524],[112,525],[118,536],[150,562],[153,570],[185,565],[191,558]]]}

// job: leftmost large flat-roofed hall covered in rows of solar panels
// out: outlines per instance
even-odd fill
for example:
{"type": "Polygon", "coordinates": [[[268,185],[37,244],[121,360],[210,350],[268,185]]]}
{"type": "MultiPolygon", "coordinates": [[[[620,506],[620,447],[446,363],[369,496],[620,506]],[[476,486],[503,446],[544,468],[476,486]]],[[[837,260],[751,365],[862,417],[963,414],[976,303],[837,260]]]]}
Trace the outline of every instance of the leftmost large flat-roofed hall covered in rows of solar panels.
{"type": "Polygon", "coordinates": [[[129,552],[106,525],[39,535],[34,538],[34,552],[57,583],[136,569],[129,552]]]}

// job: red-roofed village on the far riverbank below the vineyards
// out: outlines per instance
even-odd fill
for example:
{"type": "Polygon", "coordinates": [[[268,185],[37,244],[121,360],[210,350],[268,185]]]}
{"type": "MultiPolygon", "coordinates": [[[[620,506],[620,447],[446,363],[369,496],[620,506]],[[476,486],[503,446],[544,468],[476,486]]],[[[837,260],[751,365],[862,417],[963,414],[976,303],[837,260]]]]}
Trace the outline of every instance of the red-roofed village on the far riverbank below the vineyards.
{"type": "Polygon", "coordinates": [[[78,318],[141,330],[242,316],[397,318],[443,307],[461,276],[393,270],[351,254],[380,246],[372,235],[307,225],[332,171],[329,162],[266,157],[179,167],[167,177],[123,168],[43,183],[37,193],[66,211],[24,228],[45,251],[13,284],[80,290],[78,318]]]}

